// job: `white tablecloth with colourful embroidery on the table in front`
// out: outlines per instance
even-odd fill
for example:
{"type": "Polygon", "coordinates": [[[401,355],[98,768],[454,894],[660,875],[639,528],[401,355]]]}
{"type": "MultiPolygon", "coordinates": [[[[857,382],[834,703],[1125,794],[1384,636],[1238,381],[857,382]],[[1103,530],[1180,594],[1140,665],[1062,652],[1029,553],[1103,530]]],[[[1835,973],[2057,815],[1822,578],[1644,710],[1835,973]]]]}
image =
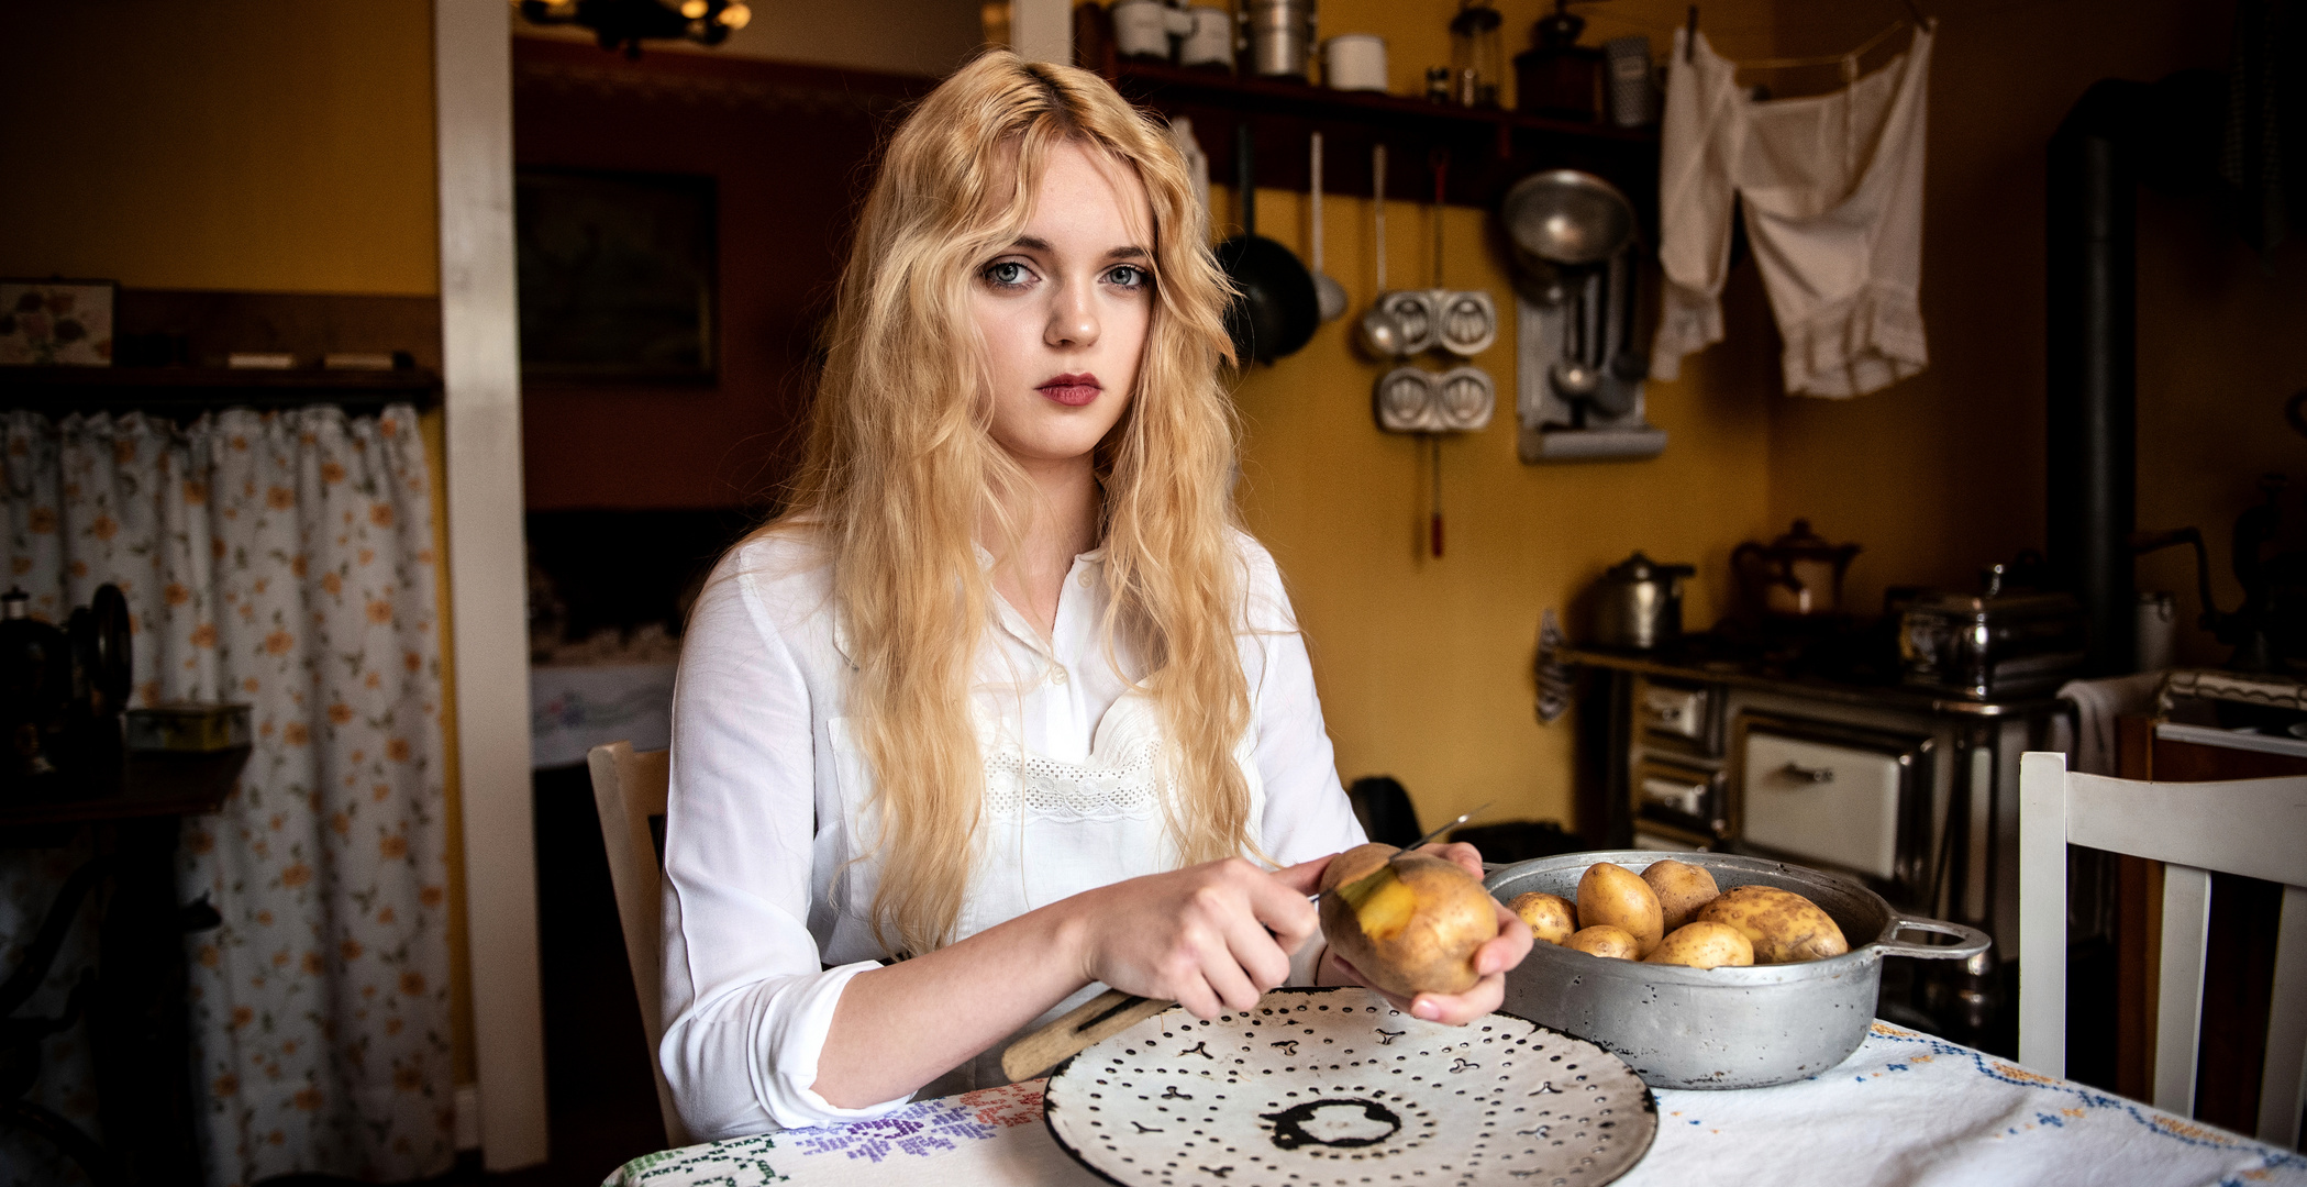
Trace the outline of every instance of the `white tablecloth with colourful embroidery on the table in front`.
{"type": "MultiPolygon", "coordinates": [[[[1040,1125],[1043,1081],[893,1116],[628,1162],[607,1187],[768,1182],[1096,1187],[1040,1125]]],[[[2307,1187],[2307,1157],[1889,1023],[1832,1072],[1735,1093],[1656,1090],[1659,1139],[1626,1187],[2307,1187]]]]}

